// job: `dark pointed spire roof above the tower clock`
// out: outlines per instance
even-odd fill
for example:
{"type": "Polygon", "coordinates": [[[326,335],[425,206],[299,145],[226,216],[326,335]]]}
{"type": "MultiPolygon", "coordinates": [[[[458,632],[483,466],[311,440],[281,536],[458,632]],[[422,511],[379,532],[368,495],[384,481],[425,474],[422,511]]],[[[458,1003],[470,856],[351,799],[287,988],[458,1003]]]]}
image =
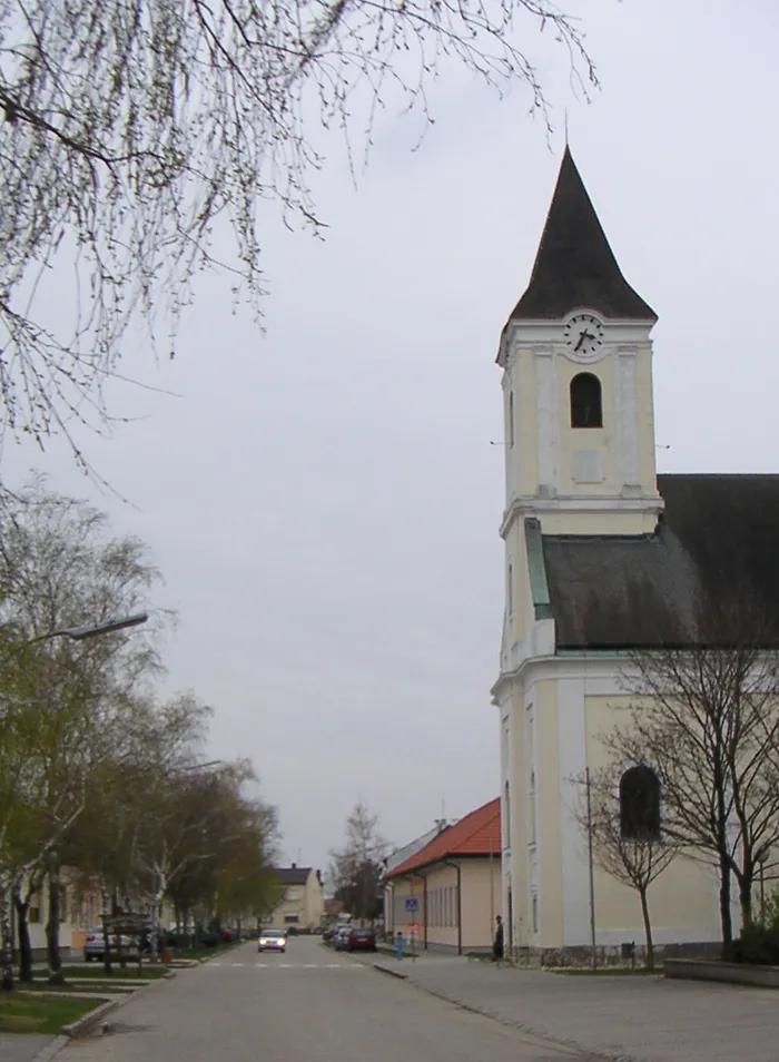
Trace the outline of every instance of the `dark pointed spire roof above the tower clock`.
{"type": "Polygon", "coordinates": [[[530,284],[510,319],[556,319],[578,306],[604,317],[657,321],[622,276],[566,146],[530,284]]]}

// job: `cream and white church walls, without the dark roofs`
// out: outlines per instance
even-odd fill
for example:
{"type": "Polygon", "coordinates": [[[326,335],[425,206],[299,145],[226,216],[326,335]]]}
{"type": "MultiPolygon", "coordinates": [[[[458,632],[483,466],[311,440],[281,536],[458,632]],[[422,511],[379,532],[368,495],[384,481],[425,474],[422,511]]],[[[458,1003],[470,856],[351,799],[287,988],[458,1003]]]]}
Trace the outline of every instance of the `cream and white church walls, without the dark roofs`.
{"type": "MultiPolygon", "coordinates": [[[[589,947],[593,906],[596,946],[643,942],[635,892],[595,868],[591,896],[574,816],[574,779],[602,764],[598,735],[624,717],[629,658],[558,651],[542,537],[654,531],[663,502],[654,460],[653,324],[651,311],[631,319],[578,304],[554,318],[512,318],[501,342],[505,611],[493,699],[501,726],[502,907],[515,948],[589,947]],[[569,338],[566,324],[580,314],[595,323],[594,350],[578,351],[569,338]],[[598,377],[603,426],[572,426],[571,381],[581,373],[598,377]]],[[[707,867],[677,859],[650,887],[649,902],[657,944],[719,940],[716,878],[707,867]]]]}

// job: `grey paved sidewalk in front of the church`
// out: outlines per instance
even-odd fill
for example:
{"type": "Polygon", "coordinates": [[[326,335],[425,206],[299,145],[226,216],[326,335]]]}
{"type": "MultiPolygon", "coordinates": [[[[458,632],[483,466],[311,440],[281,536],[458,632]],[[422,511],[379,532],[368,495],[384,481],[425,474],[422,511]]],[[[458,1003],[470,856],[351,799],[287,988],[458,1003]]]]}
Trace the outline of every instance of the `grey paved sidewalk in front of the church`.
{"type": "Polygon", "coordinates": [[[558,1043],[630,1062],[777,1062],[779,992],[661,976],[561,975],[452,955],[374,965],[558,1043]]]}

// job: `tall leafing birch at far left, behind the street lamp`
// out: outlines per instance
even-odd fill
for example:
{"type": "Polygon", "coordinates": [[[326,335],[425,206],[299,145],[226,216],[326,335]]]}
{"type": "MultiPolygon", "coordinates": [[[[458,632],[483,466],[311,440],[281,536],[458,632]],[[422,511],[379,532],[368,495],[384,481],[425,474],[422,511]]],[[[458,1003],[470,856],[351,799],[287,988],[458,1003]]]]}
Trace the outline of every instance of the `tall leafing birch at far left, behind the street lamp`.
{"type": "MultiPolygon", "coordinates": [[[[146,638],[116,632],[83,642],[50,637],[148,603],[158,579],[142,543],[111,539],[106,518],[49,492],[36,479],[0,498],[0,717],[8,785],[0,814],[2,896],[43,872],[49,891],[48,956],[60,980],[61,846],[86,805],[98,764],[119,755],[128,695],[159,668],[146,638]]],[[[4,980],[10,940],[0,901],[4,980]]],[[[28,901],[29,903],[29,901],[28,901]]],[[[23,916],[26,905],[17,904],[23,916]]],[[[23,932],[23,931],[22,931],[23,932]]]]}

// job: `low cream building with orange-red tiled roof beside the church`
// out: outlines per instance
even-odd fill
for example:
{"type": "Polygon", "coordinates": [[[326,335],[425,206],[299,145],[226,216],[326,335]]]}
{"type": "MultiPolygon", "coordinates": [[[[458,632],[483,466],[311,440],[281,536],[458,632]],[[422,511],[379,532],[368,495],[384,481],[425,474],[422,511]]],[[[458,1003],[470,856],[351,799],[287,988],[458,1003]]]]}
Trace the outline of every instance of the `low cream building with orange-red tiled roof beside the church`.
{"type": "Polygon", "coordinates": [[[420,947],[487,950],[501,913],[501,803],[491,800],[435,835],[384,875],[385,926],[416,925],[420,947]]]}

